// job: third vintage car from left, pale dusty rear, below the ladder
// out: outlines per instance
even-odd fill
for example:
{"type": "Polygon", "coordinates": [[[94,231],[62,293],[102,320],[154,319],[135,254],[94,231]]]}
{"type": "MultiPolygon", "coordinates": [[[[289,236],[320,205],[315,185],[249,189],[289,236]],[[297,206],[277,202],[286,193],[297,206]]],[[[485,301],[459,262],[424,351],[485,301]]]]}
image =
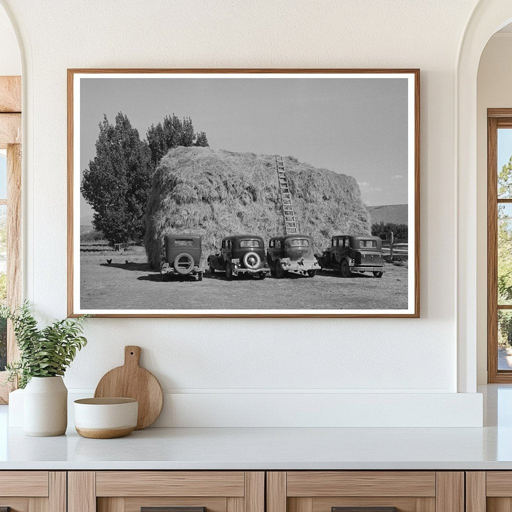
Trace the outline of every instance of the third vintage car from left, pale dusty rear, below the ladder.
{"type": "Polygon", "coordinates": [[[277,278],[284,278],[287,272],[313,278],[320,269],[314,255],[313,240],[304,234],[286,234],[271,238],[267,261],[277,278]]]}

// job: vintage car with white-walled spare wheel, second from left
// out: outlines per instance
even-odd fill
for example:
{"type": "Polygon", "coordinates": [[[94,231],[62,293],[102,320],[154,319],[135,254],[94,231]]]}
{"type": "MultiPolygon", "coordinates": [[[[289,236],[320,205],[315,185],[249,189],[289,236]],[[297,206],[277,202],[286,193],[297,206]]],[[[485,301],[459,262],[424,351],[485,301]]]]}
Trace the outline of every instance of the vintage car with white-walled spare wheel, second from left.
{"type": "Polygon", "coordinates": [[[211,273],[216,270],[225,272],[228,280],[240,274],[265,279],[270,274],[270,267],[265,259],[263,239],[254,234],[237,234],[222,239],[220,252],[208,256],[207,269],[211,273]]]}

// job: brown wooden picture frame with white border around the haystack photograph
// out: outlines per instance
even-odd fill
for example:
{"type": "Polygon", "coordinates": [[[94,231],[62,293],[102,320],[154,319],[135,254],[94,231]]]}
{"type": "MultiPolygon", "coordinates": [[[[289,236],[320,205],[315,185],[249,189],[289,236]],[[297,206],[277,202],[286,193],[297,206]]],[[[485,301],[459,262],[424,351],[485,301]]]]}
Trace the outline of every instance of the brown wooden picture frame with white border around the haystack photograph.
{"type": "MultiPolygon", "coordinates": [[[[112,82],[113,83],[113,82],[112,82]]],[[[276,318],[306,318],[306,317],[364,317],[364,318],[378,318],[378,317],[397,317],[397,318],[418,318],[420,315],[420,268],[419,268],[419,252],[420,252],[420,223],[419,223],[419,208],[420,208],[420,174],[419,174],[419,158],[420,158],[420,84],[419,84],[419,70],[418,69],[68,69],[68,315],[76,317],[83,313],[94,314],[99,317],[276,317],[276,318]],[[286,79],[293,80],[294,78],[339,78],[350,79],[360,78],[361,80],[367,79],[384,79],[396,78],[407,80],[407,219],[409,225],[408,243],[406,241],[407,257],[407,298],[404,298],[405,307],[396,309],[376,309],[376,308],[331,308],[331,309],[161,309],[161,308],[121,308],[117,306],[109,307],[87,307],[82,306],[83,296],[81,289],[85,285],[81,281],[79,272],[80,265],[80,236],[79,231],[81,228],[80,220],[80,183],[82,177],[80,173],[83,171],[83,165],[80,164],[79,150],[80,136],[77,134],[80,130],[79,124],[81,121],[80,108],[81,98],[80,94],[83,88],[80,88],[83,80],[92,79],[106,79],[106,78],[192,78],[199,79],[202,77],[207,78],[222,78],[222,79],[236,79],[236,78],[268,78],[277,79],[285,77],[286,79]],[[81,165],[81,168],[79,168],[81,165]],[[78,246],[78,248],[77,248],[78,246]]],[[[174,108],[174,106],[173,106],[174,108]]],[[[170,112],[170,111],[169,111],[170,112]]],[[[376,113],[374,113],[376,114],[376,113]]],[[[180,116],[186,116],[186,113],[180,113],[180,116]]],[[[374,119],[376,117],[374,116],[374,119]]],[[[101,119],[98,119],[98,123],[101,119]]],[[[157,119],[155,119],[155,122],[157,119]]],[[[376,122],[376,121],[375,121],[376,122]]],[[[141,139],[143,135],[141,134],[141,139]]],[[[229,150],[230,148],[226,148],[229,150]]],[[[288,157],[287,157],[288,158],[288,157]]],[[[298,158],[300,160],[300,158],[298,158]]],[[[277,160],[276,160],[277,161],[277,160]]],[[[87,164],[86,164],[87,165],[87,164]]],[[[278,167],[279,170],[279,167],[278,167]]],[[[325,170],[325,169],[321,169],[325,170]]],[[[279,175],[279,173],[278,173],[279,175]]],[[[284,203],[283,203],[284,204],[284,203]]],[[[362,204],[362,203],[361,203],[362,204]]],[[[283,207],[284,210],[284,207],[283,207]]],[[[285,212],[286,213],[286,212],[285,212]]],[[[370,217],[368,216],[368,219],[370,217]]],[[[369,222],[369,221],[367,221],[369,222]]],[[[286,226],[286,216],[285,216],[286,226]]],[[[298,230],[298,228],[297,228],[298,230]]],[[[183,232],[183,231],[182,231],[183,232]]],[[[226,233],[234,234],[234,233],[226,233]]],[[[254,233],[259,234],[259,233],[254,233]]],[[[330,234],[336,234],[335,232],[330,234]]],[[[357,234],[357,233],[344,233],[344,234],[357,234]]],[[[127,242],[117,243],[118,241],[111,241],[112,244],[116,243],[119,249],[126,249],[127,242]]],[[[122,242],[122,240],[119,240],[122,242]]],[[[265,240],[268,244],[268,238],[265,240]]],[[[114,246],[114,248],[116,248],[114,246]]],[[[219,245],[220,247],[220,240],[219,245]]],[[[325,245],[323,246],[325,247],[325,245]]],[[[321,249],[321,247],[318,247],[321,249]]],[[[396,253],[395,253],[396,258],[396,253]]],[[[391,253],[393,259],[393,253],[391,253]]],[[[100,265],[106,267],[112,262],[111,258],[104,258],[104,262],[100,265]]],[[[126,265],[129,266],[129,259],[126,259],[126,265]]],[[[233,260],[235,261],[235,260],[233,260]]],[[[354,265],[352,260],[352,265],[354,265]]],[[[118,266],[122,265],[122,262],[118,266]]],[[[393,266],[392,266],[393,267],[393,266]]],[[[391,267],[391,268],[392,268],[391,267]]],[[[117,268],[117,267],[116,267],[117,268]]],[[[260,267],[258,267],[260,268],[260,267]]],[[[354,267],[356,268],[356,267],[354,267]]],[[[393,268],[392,268],[393,269],[393,268]]],[[[398,270],[397,270],[398,271],[398,270]]],[[[327,272],[327,271],[325,271],[327,272]]],[[[368,275],[368,274],[367,274],[368,275]]],[[[385,274],[386,275],[386,274],[385,274]]],[[[153,279],[151,275],[140,276],[139,279],[153,279]]],[[[314,281],[314,280],[312,280],[314,281]]],[[[318,279],[317,279],[318,281],[318,279]]],[[[381,280],[385,281],[385,278],[381,280]]],[[[268,282],[268,280],[267,280],[268,282]]],[[[362,282],[362,281],[361,281],[362,282]]],[[[313,284],[313,283],[312,283],[313,284]]],[[[109,286],[109,285],[105,285],[109,286]]],[[[192,288],[189,288],[190,290],[192,288]]],[[[194,292],[191,292],[194,293],[194,292]]],[[[219,292],[219,296],[224,296],[228,293],[224,289],[219,292]]],[[[388,296],[393,297],[393,292],[388,296]]],[[[155,295],[157,296],[157,295],[155,295]]],[[[103,306],[107,304],[103,299],[103,306]]]]}

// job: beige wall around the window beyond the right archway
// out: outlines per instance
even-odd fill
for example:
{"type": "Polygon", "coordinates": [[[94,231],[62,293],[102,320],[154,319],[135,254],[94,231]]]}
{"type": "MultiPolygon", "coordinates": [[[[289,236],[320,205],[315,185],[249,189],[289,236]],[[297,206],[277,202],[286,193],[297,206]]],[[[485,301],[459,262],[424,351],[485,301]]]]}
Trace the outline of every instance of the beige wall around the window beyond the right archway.
{"type": "Polygon", "coordinates": [[[512,33],[495,34],[480,59],[477,80],[477,369],[487,382],[487,109],[512,107],[512,33]]]}

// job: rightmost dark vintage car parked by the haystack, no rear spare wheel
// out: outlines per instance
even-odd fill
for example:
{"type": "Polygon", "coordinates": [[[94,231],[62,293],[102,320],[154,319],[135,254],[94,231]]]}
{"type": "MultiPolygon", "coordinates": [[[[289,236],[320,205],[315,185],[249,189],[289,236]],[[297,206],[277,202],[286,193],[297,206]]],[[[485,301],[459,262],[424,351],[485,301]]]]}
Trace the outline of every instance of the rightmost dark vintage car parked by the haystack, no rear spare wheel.
{"type": "Polygon", "coordinates": [[[384,272],[384,253],[382,240],[367,235],[337,234],[331,239],[331,247],[316,254],[322,268],[339,270],[344,278],[354,272],[373,272],[381,278],[384,272]]]}

